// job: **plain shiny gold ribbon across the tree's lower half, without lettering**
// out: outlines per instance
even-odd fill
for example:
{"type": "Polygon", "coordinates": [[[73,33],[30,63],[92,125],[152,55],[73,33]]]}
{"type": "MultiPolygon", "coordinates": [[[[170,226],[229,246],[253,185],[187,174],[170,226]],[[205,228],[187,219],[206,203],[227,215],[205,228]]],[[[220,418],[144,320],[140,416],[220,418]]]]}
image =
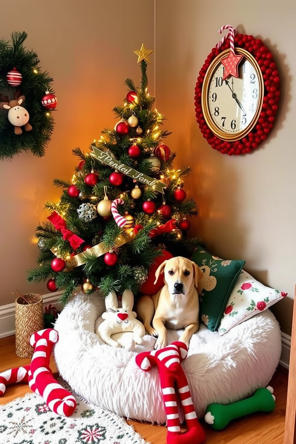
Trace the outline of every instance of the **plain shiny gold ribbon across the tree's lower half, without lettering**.
{"type": "MultiPolygon", "coordinates": [[[[134,233],[134,229],[131,228],[130,230],[124,231],[122,234],[119,234],[117,238],[115,238],[115,247],[121,247],[124,244],[127,244],[127,242],[130,242],[133,240],[134,236],[136,234],[134,233]]],[[[54,254],[55,252],[51,250],[54,254]]],[[[108,253],[110,251],[110,248],[106,247],[104,242],[100,242],[99,244],[89,248],[88,250],[84,251],[83,253],[75,254],[75,256],[72,256],[70,259],[67,259],[66,262],[66,269],[71,269],[75,267],[79,267],[80,265],[85,264],[87,261],[85,259],[85,253],[91,253],[96,258],[99,258],[99,256],[103,256],[103,254],[108,253]]],[[[65,270],[66,271],[66,270],[65,270]]]]}

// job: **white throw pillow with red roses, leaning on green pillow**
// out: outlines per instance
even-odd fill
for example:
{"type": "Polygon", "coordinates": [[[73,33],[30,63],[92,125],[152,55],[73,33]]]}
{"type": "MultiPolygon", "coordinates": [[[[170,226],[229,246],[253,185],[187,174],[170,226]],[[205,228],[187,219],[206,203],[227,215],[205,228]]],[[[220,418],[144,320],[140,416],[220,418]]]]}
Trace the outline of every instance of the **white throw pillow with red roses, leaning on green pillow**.
{"type": "Polygon", "coordinates": [[[218,332],[222,336],[235,325],[268,309],[288,293],[266,287],[245,270],[237,278],[221,318],[218,332]]]}

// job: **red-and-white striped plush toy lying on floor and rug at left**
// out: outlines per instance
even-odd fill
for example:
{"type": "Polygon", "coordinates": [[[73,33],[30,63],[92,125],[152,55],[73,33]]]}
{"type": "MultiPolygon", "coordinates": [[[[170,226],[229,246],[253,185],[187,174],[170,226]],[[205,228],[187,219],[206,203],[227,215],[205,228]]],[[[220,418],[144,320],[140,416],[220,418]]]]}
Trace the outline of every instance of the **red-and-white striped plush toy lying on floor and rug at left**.
{"type": "Polygon", "coordinates": [[[0,373],[0,395],[7,385],[28,382],[32,391],[41,395],[53,412],[71,416],[76,408],[75,397],[55,380],[49,367],[51,350],[58,338],[54,329],[34,333],[30,339],[30,344],[35,347],[31,365],[0,373]]]}

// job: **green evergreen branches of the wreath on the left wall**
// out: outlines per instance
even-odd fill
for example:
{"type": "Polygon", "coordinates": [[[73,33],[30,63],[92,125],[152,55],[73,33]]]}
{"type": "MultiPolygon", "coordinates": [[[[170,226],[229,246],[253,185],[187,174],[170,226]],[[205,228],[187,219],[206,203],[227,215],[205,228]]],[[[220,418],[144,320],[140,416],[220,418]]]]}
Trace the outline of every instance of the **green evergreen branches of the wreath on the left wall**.
{"type": "Polygon", "coordinates": [[[36,52],[24,48],[27,36],[24,31],[12,32],[11,43],[0,40],[0,100],[5,102],[5,97],[9,101],[20,99],[20,95],[24,95],[24,107],[30,115],[29,126],[32,126],[30,131],[15,134],[14,124],[8,120],[8,108],[0,109],[0,160],[12,159],[29,149],[33,155],[42,157],[54,128],[51,112],[41,103],[45,92],[53,92],[50,89],[53,79],[46,71],[41,71],[36,52]],[[6,76],[14,67],[22,75],[20,86],[11,86],[7,82],[6,76]]]}

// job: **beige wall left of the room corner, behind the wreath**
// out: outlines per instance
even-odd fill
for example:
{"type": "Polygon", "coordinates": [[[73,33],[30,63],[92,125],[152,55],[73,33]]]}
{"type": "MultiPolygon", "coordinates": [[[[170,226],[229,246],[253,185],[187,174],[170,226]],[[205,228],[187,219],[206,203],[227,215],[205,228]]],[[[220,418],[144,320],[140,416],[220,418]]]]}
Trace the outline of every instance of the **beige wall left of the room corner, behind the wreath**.
{"type": "MultiPolygon", "coordinates": [[[[126,77],[138,84],[140,65],[134,50],[142,42],[154,49],[151,0],[15,0],[1,2],[0,37],[28,33],[40,66],[54,78],[58,106],[47,154],[22,153],[0,162],[0,305],[14,302],[12,291],[48,293],[45,284],[28,285],[26,270],[35,266],[34,230],[46,218],[44,202],[59,200],[54,178],[69,180],[78,163],[75,147],[88,151],[103,127],[113,127],[112,108],[126,95],[126,77]]],[[[154,94],[154,57],[148,71],[154,94]]]]}

